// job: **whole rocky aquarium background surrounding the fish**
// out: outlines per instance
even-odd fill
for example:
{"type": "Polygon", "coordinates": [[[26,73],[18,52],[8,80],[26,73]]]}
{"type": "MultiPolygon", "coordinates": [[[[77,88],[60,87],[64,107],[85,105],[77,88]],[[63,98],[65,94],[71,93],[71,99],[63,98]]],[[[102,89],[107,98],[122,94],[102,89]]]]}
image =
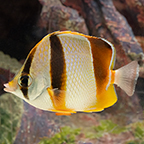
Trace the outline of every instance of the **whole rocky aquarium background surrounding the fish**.
{"type": "Polygon", "coordinates": [[[144,0],[5,0],[0,4],[0,144],[144,144],[144,0]],[[116,87],[118,101],[99,113],[56,116],[4,93],[32,47],[71,30],[104,37],[115,69],[138,60],[136,91],[116,87]]]}

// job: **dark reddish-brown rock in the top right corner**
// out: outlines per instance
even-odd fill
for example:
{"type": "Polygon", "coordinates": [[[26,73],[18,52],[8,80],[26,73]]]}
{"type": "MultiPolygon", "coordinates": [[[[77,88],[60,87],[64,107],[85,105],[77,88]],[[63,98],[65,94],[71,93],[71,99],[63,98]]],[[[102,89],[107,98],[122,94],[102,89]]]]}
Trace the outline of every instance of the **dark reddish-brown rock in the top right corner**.
{"type": "Polygon", "coordinates": [[[144,0],[113,0],[118,11],[125,16],[135,35],[144,33],[144,0]]]}

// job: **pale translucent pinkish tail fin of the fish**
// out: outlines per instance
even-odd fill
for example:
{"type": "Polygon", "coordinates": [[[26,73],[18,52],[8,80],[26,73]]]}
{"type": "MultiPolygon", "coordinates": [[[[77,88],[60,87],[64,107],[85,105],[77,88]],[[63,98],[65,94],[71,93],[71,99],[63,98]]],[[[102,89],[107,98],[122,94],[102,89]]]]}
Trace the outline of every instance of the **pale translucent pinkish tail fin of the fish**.
{"type": "Polygon", "coordinates": [[[139,65],[133,61],[115,71],[115,84],[123,89],[127,95],[132,96],[139,76],[139,65]]]}

